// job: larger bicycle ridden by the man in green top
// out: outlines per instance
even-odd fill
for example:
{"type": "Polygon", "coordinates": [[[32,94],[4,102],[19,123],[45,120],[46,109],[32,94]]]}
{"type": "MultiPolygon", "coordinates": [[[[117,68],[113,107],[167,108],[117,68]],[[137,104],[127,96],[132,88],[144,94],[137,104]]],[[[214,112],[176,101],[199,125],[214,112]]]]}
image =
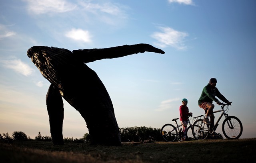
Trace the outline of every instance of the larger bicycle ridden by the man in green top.
{"type": "Polygon", "coordinates": [[[221,110],[217,110],[213,112],[213,113],[222,112],[213,128],[211,128],[210,125],[207,125],[203,122],[205,118],[205,114],[194,117],[196,121],[194,122],[192,127],[192,131],[193,131],[192,134],[196,139],[198,140],[206,139],[206,137],[209,134],[214,134],[214,132],[216,131],[219,125],[218,123],[220,122],[220,119],[222,118],[223,115],[225,117],[222,123],[222,132],[224,136],[228,139],[238,139],[242,135],[242,132],[243,132],[242,122],[237,117],[229,116],[227,114],[229,110],[229,106],[227,104],[221,103],[220,105],[222,105],[221,110]]]}

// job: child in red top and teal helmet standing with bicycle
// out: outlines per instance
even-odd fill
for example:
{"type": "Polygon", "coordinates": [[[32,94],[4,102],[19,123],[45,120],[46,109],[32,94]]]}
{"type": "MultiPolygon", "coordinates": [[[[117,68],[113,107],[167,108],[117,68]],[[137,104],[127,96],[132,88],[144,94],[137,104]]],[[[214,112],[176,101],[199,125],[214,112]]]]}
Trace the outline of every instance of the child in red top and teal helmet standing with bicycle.
{"type": "Polygon", "coordinates": [[[181,141],[186,140],[186,133],[188,130],[188,117],[192,116],[192,113],[188,111],[188,100],[186,98],[182,99],[182,105],[180,106],[180,122],[183,126],[183,137],[181,141]]]}

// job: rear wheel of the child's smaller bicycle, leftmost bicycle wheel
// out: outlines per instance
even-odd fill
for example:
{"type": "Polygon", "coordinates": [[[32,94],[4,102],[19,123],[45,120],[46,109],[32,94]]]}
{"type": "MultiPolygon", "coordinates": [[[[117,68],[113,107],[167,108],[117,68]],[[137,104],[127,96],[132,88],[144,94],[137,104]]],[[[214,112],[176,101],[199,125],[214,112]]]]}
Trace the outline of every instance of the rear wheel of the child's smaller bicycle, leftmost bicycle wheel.
{"type": "Polygon", "coordinates": [[[178,137],[178,131],[172,124],[165,124],[161,129],[162,137],[165,141],[172,142],[178,137]]]}

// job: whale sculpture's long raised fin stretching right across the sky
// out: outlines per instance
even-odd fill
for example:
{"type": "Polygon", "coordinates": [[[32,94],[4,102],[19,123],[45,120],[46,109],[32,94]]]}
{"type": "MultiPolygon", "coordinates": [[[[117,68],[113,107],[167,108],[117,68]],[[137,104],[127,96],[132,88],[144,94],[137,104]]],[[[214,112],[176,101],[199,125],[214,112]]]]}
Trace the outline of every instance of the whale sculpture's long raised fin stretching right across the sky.
{"type": "Polygon", "coordinates": [[[165,53],[161,49],[158,49],[146,43],[140,43],[135,45],[123,45],[103,49],[79,49],[73,50],[72,53],[74,55],[78,55],[79,58],[82,58],[84,63],[88,63],[100,59],[112,59],[137,53],[144,53],[146,51],[161,54],[165,53]]]}

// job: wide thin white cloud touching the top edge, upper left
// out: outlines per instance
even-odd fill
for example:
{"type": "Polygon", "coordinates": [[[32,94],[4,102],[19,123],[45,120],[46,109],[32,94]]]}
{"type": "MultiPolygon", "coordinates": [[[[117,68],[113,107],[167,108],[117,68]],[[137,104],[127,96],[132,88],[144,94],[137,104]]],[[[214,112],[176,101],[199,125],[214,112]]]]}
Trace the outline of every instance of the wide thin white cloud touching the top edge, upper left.
{"type": "Polygon", "coordinates": [[[28,3],[28,11],[34,14],[45,14],[49,12],[68,12],[76,8],[66,0],[24,0],[28,3]]]}

